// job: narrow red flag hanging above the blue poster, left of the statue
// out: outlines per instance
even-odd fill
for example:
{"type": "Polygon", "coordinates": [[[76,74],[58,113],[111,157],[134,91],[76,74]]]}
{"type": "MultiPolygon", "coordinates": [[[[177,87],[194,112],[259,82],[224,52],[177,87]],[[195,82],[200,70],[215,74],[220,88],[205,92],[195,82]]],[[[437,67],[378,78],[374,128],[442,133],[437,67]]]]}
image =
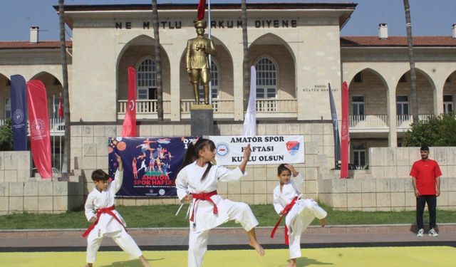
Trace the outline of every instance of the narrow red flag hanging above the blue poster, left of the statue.
{"type": "Polygon", "coordinates": [[[122,125],[122,136],[136,136],[136,74],[133,67],[128,67],[128,102],[122,125]]]}

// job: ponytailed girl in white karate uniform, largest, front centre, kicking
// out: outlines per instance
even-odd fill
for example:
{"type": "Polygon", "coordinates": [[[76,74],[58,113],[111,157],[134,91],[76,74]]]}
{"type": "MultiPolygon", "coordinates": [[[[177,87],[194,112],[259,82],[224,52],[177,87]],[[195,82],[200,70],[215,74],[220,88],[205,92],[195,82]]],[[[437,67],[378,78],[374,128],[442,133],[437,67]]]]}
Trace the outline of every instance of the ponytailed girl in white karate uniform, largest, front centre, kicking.
{"type": "Polygon", "coordinates": [[[242,202],[222,199],[217,194],[218,182],[239,180],[245,173],[250,157],[250,145],[244,150],[244,159],[233,170],[213,166],[214,142],[200,138],[187,148],[182,169],[176,178],[177,196],[181,201],[191,201],[188,266],[201,267],[207,251],[209,230],[227,221],[238,221],[247,231],[249,245],[264,256],[264,250],[257,241],[254,227],[258,221],[250,207],[242,202]]]}

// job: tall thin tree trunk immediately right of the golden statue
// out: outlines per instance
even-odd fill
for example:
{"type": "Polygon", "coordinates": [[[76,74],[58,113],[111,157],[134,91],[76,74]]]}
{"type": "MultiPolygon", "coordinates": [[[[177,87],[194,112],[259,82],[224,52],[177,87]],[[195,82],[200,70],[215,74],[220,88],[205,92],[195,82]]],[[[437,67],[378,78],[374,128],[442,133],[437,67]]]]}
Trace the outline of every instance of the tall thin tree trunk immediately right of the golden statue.
{"type": "Polygon", "coordinates": [[[247,4],[246,0],[241,1],[242,8],[242,44],[244,46],[244,61],[242,63],[243,73],[243,86],[242,91],[244,95],[244,112],[247,111],[247,104],[249,103],[249,90],[250,90],[250,71],[249,71],[249,42],[247,40],[247,4]]]}

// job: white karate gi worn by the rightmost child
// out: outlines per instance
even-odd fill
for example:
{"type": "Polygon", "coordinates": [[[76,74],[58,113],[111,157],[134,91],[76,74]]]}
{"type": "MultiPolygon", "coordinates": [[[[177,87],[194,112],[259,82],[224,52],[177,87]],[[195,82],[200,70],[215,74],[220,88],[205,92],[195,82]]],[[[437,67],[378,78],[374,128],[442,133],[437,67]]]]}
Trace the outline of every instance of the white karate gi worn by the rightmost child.
{"type": "Polygon", "coordinates": [[[299,199],[285,217],[285,225],[289,232],[290,258],[301,257],[301,234],[316,218],[323,219],[327,213],[318,206],[314,199],[301,199],[300,189],[304,184],[301,174],[289,183],[284,184],[280,191],[280,184],[274,188],[274,209],[277,214],[290,204],[294,197],[299,199]]]}

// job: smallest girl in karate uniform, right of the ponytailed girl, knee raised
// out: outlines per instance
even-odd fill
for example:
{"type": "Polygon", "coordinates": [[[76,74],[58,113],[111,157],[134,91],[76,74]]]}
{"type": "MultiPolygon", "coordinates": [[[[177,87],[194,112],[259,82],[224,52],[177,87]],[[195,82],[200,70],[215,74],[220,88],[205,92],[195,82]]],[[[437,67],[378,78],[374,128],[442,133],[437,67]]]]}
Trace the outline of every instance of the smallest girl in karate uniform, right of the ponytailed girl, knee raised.
{"type": "MultiPolygon", "coordinates": [[[[301,257],[301,234],[316,218],[320,225],[326,225],[326,211],[321,209],[314,199],[302,199],[301,187],[304,179],[291,164],[280,164],[277,168],[280,183],[274,188],[274,209],[277,214],[285,217],[285,243],[289,244],[290,263],[286,267],[296,267],[296,258],[301,257]],[[291,179],[293,174],[294,179],[291,179]],[[288,231],[287,231],[288,230],[288,231]]],[[[271,237],[279,226],[277,222],[271,237]]]]}

